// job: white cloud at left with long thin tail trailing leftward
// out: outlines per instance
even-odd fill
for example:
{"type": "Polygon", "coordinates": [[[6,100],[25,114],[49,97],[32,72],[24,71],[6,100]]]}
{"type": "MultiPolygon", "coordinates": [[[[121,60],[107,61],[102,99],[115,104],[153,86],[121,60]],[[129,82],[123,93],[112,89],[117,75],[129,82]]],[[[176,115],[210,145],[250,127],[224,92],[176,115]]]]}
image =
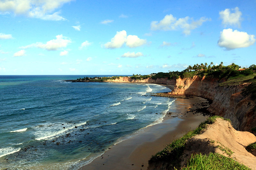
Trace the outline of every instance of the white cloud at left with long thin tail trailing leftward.
{"type": "Polygon", "coordinates": [[[42,42],[36,42],[34,44],[30,44],[20,48],[26,49],[26,48],[36,47],[36,48],[46,49],[48,51],[54,51],[54,50],[58,50],[59,48],[67,47],[69,43],[71,43],[71,40],[68,39],[67,37],[64,37],[61,34],[61,35],[57,35],[56,39],[46,42],[46,44],[43,44],[42,42]]]}

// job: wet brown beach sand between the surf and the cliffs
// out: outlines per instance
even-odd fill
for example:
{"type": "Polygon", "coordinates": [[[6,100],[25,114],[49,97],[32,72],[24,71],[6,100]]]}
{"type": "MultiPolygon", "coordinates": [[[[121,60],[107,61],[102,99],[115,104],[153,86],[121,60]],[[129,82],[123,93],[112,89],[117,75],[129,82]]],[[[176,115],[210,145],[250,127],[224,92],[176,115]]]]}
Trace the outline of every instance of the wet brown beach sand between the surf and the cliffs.
{"type": "Polygon", "coordinates": [[[205,106],[206,102],[206,99],[200,97],[176,99],[169,110],[171,115],[166,114],[161,123],[142,129],[133,137],[117,143],[80,170],[147,169],[152,155],[163,150],[174,139],[195,129],[208,117],[195,111],[205,106]]]}

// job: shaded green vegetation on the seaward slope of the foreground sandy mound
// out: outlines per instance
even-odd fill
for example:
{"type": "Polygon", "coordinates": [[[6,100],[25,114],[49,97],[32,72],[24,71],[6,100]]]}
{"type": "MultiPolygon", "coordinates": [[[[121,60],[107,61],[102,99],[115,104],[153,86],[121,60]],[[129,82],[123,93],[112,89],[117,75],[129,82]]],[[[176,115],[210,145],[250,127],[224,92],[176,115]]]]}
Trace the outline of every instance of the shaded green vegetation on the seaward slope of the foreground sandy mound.
{"type": "MultiPolygon", "coordinates": [[[[165,160],[165,161],[170,161],[170,164],[172,164],[172,165],[179,165],[180,156],[184,151],[186,141],[189,138],[200,134],[204,129],[206,129],[208,124],[212,124],[213,122],[215,122],[216,118],[222,118],[222,117],[220,117],[220,116],[209,117],[208,119],[206,119],[206,121],[202,122],[198,126],[198,128],[196,128],[193,131],[189,131],[183,137],[180,137],[180,138],[174,140],[171,144],[167,145],[163,151],[156,153],[156,155],[153,155],[151,157],[151,159],[149,160],[149,162],[165,160]]],[[[230,122],[229,119],[225,119],[225,120],[230,122]]]]}

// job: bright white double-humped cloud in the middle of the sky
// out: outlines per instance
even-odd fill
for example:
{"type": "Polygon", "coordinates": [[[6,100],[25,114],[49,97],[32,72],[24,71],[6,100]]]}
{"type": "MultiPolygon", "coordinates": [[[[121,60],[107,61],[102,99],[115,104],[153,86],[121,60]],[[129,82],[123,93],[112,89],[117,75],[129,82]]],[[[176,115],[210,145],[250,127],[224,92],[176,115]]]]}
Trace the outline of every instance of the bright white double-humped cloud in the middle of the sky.
{"type": "Polygon", "coordinates": [[[116,32],[116,35],[111,39],[110,42],[104,44],[105,48],[120,48],[126,43],[130,48],[135,48],[146,44],[146,40],[140,39],[137,35],[128,35],[126,31],[116,32]]]}

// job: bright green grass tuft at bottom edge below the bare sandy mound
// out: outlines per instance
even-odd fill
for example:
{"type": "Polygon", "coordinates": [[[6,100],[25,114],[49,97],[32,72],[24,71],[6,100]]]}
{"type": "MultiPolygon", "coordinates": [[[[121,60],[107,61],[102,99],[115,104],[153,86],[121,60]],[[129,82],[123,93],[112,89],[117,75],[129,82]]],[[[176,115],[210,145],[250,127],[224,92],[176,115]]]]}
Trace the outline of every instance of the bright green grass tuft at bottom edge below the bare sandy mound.
{"type": "Polygon", "coordinates": [[[202,155],[201,153],[192,155],[187,163],[186,167],[181,170],[199,170],[199,169],[216,169],[216,170],[227,170],[227,169],[244,169],[249,170],[247,166],[238,163],[236,160],[225,157],[218,153],[209,153],[208,155],[202,155]]]}

